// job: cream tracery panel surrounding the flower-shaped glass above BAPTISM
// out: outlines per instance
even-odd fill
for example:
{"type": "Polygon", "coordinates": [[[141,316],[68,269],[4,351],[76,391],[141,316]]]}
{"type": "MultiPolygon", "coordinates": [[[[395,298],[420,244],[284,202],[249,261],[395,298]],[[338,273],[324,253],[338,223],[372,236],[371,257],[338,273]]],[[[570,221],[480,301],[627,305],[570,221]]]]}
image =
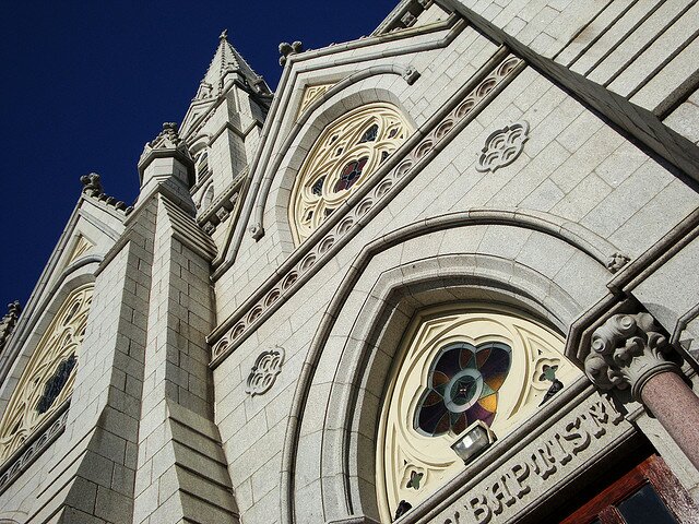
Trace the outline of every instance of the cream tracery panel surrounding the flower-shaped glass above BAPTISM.
{"type": "MultiPolygon", "coordinates": [[[[391,377],[379,424],[376,471],[382,522],[392,521],[399,501],[416,505],[463,471],[463,462],[450,445],[463,424],[471,420],[458,420],[457,431],[447,425],[446,431],[442,426],[441,433],[427,434],[429,431],[419,427],[418,416],[436,380],[436,366],[441,366],[443,355],[462,347],[471,348],[465,355],[470,350],[479,355],[479,349],[484,349],[485,355],[490,348],[497,348],[500,357],[507,355],[509,348],[509,369],[489,381],[494,389],[482,393],[478,401],[487,408],[482,415],[488,410],[495,413],[495,418],[491,415],[485,418],[498,439],[538,408],[553,384],[546,378],[546,374],[550,377],[550,370],[555,370],[555,378],[564,388],[581,376],[564,357],[562,338],[520,312],[508,308],[445,307],[419,314],[398,354],[400,365],[391,377]]],[[[486,361],[485,358],[473,361],[476,360],[478,367],[486,361]]],[[[479,370],[470,373],[479,376],[479,370]]]]}

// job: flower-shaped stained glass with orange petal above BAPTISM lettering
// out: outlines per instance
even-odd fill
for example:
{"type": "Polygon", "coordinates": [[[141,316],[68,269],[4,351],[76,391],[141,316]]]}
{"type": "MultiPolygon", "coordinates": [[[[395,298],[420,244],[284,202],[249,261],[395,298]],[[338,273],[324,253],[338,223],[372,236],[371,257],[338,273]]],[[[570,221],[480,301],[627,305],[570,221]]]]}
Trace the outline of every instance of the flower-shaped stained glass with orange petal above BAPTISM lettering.
{"type": "Polygon", "coordinates": [[[501,388],[512,364],[507,344],[474,346],[460,342],[445,346],[435,358],[428,388],[415,413],[415,429],[429,437],[460,433],[476,420],[490,426],[501,388]]]}

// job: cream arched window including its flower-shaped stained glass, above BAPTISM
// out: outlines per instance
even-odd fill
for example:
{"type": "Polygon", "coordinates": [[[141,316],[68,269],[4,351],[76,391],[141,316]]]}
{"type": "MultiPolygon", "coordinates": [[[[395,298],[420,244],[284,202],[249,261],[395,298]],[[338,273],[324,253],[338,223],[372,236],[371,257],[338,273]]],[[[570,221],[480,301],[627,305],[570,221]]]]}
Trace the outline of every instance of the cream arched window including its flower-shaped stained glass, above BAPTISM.
{"type": "Polygon", "coordinates": [[[451,444],[470,425],[502,439],[581,377],[560,335],[505,307],[424,311],[395,358],[377,439],[382,522],[401,500],[416,505],[463,469],[451,444]]]}

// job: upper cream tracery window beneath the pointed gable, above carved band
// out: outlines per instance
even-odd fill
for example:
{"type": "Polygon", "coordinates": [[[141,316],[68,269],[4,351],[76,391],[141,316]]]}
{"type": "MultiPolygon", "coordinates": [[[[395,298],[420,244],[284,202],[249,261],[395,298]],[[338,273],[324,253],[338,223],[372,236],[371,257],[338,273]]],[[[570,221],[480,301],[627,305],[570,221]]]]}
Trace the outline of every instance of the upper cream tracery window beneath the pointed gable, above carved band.
{"type": "Polygon", "coordinates": [[[412,132],[399,109],[387,103],[362,106],[330,123],[292,189],[288,218],[294,242],[306,240],[412,132]]]}

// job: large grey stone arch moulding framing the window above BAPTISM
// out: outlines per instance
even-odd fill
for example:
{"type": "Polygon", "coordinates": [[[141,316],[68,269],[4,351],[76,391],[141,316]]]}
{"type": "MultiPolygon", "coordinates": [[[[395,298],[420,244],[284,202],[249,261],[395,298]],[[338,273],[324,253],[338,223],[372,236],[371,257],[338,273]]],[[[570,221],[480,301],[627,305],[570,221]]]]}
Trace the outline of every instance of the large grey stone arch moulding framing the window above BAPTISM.
{"type": "Polygon", "coordinates": [[[599,294],[606,293],[609,273],[600,253],[613,247],[604,241],[591,247],[576,235],[565,241],[526,221],[519,226],[476,222],[451,227],[429,222],[414,225],[413,234],[407,234],[411,226],[403,228],[403,241],[395,235],[394,242],[384,238],[382,246],[365,249],[353,264],[357,272],[340,287],[316,333],[285,442],[282,498],[289,512],[283,522],[348,514],[378,516],[372,473],[367,475],[374,471],[375,441],[364,433],[374,428],[369,432],[376,437],[379,398],[391,355],[418,309],[454,300],[495,300],[565,334],[573,319],[595,301],[593,295],[600,298],[599,294]],[[497,231],[488,234],[488,228],[497,231]],[[559,260],[537,262],[525,250],[507,251],[512,245],[522,248],[525,238],[541,242],[543,252],[558,252],[559,260]],[[426,243],[441,247],[424,249],[426,243]],[[425,252],[440,254],[423,258],[425,252]],[[564,265],[577,266],[582,279],[557,278],[564,265]],[[332,406],[322,409],[328,410],[322,420],[310,415],[320,406],[332,406]],[[305,452],[320,452],[318,469],[296,468],[296,454],[305,452]],[[303,479],[312,478],[320,480],[304,485],[303,479]],[[295,509],[296,497],[337,500],[346,513],[328,514],[322,507],[309,508],[307,503],[295,509]]]}

